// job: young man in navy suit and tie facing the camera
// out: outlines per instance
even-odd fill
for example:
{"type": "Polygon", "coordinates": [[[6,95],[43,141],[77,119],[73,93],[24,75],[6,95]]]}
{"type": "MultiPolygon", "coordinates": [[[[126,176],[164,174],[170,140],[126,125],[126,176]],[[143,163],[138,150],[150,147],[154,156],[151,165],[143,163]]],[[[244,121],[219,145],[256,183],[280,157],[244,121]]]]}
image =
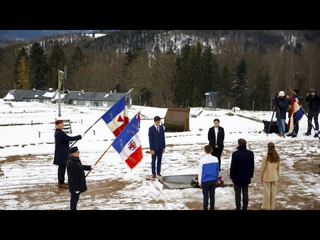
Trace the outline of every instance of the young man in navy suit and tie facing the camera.
{"type": "Polygon", "coordinates": [[[153,118],[154,125],[149,127],[149,145],[151,151],[151,171],[152,178],[156,178],[155,175],[155,160],[156,162],[156,174],[161,176],[161,159],[162,153],[165,151],[165,137],[164,137],[164,129],[163,126],[160,125],[161,118],[159,116],[155,116],[153,118]]]}

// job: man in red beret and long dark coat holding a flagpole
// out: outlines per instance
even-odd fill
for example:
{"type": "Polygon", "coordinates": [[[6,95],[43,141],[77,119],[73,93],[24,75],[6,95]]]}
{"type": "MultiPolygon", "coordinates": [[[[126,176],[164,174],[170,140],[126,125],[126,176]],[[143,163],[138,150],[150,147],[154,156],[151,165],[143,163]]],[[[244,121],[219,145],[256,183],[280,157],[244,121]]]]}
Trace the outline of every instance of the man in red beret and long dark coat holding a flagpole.
{"type": "Polygon", "coordinates": [[[54,160],[53,164],[58,165],[58,187],[68,188],[68,185],[64,183],[64,174],[66,167],[66,160],[68,158],[69,141],[79,140],[84,136],[84,133],[77,136],[68,136],[62,129],[64,128],[64,123],[62,120],[56,120],[55,122],[55,132],[54,132],[54,160]]]}

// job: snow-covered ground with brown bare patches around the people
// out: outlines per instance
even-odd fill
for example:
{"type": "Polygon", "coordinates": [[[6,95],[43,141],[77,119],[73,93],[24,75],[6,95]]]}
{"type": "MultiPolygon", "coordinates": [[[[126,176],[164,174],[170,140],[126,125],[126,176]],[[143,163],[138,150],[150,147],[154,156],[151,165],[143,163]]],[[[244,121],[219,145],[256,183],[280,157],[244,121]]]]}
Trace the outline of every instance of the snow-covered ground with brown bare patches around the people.
{"type": "MultiPolygon", "coordinates": [[[[128,109],[129,119],[140,106],[128,109]]],[[[72,134],[83,133],[107,109],[101,107],[4,102],[0,99],[0,209],[69,209],[69,192],[57,188],[57,166],[54,157],[54,120],[70,119],[72,134]],[[32,124],[31,124],[32,123],[32,124]],[[40,136],[40,137],[39,137],[40,136]]],[[[305,109],[306,110],[306,109],[305,109]]],[[[275,209],[320,209],[319,139],[303,136],[307,120],[299,123],[298,137],[266,136],[262,120],[270,120],[272,111],[236,111],[227,109],[190,109],[186,132],[165,132],[166,151],[162,157],[161,174],[195,174],[198,159],[208,143],[207,132],[213,119],[219,118],[224,128],[224,150],[221,156],[223,177],[228,177],[231,154],[237,139],[244,138],[254,152],[255,172],[249,186],[248,209],[259,209],[262,183],[259,180],[262,155],[267,142],[273,141],[282,159],[275,209]]],[[[130,170],[110,147],[86,178],[88,190],[80,194],[78,209],[201,209],[202,193],[198,188],[166,189],[151,179],[151,156],[148,128],[153,117],[161,121],[166,108],[144,107],[141,111],[140,137],[143,159],[130,170]]],[[[99,120],[76,142],[82,164],[94,164],[112,143],[113,134],[99,120]]],[[[65,174],[67,178],[67,174],[65,174]]],[[[215,208],[233,209],[233,187],[216,188],[215,208]]]]}

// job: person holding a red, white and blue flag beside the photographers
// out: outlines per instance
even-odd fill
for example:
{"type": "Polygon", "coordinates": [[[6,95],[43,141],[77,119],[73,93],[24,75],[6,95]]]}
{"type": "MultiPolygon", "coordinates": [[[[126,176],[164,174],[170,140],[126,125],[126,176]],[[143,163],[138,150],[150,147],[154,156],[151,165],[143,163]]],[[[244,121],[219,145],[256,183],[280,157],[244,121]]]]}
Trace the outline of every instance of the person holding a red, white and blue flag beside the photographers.
{"type": "Polygon", "coordinates": [[[290,105],[290,115],[289,115],[289,121],[288,121],[288,127],[289,127],[289,133],[287,136],[296,137],[299,130],[299,120],[303,116],[303,109],[301,107],[301,103],[298,100],[297,97],[298,89],[294,88],[292,90],[292,96],[291,96],[291,105],[290,105]]]}

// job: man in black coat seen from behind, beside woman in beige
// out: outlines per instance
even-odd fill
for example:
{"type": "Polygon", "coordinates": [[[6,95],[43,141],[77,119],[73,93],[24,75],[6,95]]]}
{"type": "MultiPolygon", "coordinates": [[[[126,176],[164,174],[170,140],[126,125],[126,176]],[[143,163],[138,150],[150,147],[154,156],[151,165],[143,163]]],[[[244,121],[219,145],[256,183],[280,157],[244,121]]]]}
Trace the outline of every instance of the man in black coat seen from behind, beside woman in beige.
{"type": "Polygon", "coordinates": [[[253,152],[246,149],[246,141],[238,139],[238,150],[232,153],[230,165],[230,180],[233,183],[235,192],[236,210],[241,209],[241,190],[242,190],[242,210],[248,207],[248,186],[254,172],[253,152]]]}

